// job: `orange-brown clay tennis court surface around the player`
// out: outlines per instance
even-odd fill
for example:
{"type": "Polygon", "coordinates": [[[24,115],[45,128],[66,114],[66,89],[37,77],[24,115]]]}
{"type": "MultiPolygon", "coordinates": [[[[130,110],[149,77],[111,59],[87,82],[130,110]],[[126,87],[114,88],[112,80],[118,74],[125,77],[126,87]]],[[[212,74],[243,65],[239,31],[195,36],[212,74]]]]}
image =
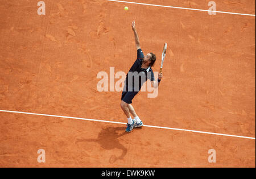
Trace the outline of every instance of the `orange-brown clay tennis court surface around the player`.
{"type": "MultiPolygon", "coordinates": [[[[128,72],[135,20],[144,54],[157,56],[155,72],[168,44],[158,97],[141,91],[133,100],[143,123],[254,139],[152,127],[127,133],[125,124],[0,111],[1,167],[255,167],[255,16],[44,2],[40,16],[38,1],[1,0],[0,110],[126,123],[122,92],[99,92],[97,74],[128,72]]],[[[209,9],[205,0],[133,2],[209,9]]],[[[215,2],[217,11],[255,14],[255,1],[215,2]]]]}

